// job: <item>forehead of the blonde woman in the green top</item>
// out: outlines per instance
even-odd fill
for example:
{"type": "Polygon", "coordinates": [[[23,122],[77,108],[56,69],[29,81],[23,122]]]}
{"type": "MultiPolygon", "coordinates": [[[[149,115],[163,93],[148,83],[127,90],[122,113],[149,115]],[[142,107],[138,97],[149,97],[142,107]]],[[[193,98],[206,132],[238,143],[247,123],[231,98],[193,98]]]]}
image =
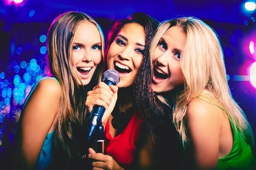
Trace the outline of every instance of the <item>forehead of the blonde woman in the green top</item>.
{"type": "Polygon", "coordinates": [[[186,34],[180,26],[172,26],[164,33],[163,39],[176,46],[175,48],[182,49],[186,43],[186,34]]]}

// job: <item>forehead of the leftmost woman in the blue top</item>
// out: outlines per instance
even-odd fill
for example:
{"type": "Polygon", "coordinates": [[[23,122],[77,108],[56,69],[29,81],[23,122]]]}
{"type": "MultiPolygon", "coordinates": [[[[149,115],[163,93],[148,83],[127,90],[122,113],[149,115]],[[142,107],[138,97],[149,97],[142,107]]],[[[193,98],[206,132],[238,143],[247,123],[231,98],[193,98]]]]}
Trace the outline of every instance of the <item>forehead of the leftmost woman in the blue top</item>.
{"type": "Polygon", "coordinates": [[[100,34],[98,28],[90,21],[82,21],[76,26],[75,39],[96,39],[100,40],[100,34]]]}

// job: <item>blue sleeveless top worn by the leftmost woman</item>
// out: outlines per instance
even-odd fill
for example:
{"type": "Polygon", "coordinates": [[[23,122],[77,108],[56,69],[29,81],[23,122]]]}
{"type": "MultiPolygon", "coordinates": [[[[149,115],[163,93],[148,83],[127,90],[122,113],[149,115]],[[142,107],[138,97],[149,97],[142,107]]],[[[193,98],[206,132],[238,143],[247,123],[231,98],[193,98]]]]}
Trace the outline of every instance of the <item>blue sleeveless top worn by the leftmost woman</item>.
{"type": "MultiPolygon", "coordinates": [[[[54,79],[55,81],[58,82],[58,80],[56,78],[53,77],[45,77],[45,78],[41,78],[40,80],[38,80],[31,88],[29,95],[26,98],[26,101],[24,102],[24,106],[26,104],[26,102],[28,101],[30,95],[32,95],[33,91],[35,90],[36,86],[38,85],[38,83],[42,80],[45,79],[54,79]]],[[[52,148],[53,148],[53,133],[54,131],[50,132],[47,134],[45,140],[44,140],[44,144],[42,146],[41,152],[39,154],[38,157],[38,161],[37,161],[37,166],[36,169],[37,170],[46,170],[47,167],[49,167],[51,161],[52,161],[52,148]]]]}

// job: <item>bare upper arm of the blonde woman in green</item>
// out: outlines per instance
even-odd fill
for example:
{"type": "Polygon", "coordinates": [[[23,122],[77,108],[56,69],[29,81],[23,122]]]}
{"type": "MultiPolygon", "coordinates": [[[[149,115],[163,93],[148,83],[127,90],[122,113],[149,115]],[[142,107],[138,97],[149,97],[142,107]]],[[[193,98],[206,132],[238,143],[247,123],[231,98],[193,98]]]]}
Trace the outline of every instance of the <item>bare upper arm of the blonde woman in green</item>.
{"type": "Polygon", "coordinates": [[[187,106],[185,120],[198,169],[217,169],[221,131],[218,112],[215,105],[198,98],[187,106]]]}

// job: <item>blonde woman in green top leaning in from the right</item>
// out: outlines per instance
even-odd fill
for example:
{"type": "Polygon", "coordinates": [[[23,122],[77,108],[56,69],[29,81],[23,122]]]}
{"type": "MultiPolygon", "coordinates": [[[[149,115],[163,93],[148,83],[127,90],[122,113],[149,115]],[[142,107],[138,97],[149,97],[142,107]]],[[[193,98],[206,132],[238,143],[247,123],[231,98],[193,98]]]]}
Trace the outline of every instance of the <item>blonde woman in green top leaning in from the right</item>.
{"type": "Polygon", "coordinates": [[[186,151],[182,165],[255,169],[253,133],[231,96],[216,33],[193,17],[165,21],[151,44],[151,61],[151,88],[173,109],[170,115],[186,151]]]}

